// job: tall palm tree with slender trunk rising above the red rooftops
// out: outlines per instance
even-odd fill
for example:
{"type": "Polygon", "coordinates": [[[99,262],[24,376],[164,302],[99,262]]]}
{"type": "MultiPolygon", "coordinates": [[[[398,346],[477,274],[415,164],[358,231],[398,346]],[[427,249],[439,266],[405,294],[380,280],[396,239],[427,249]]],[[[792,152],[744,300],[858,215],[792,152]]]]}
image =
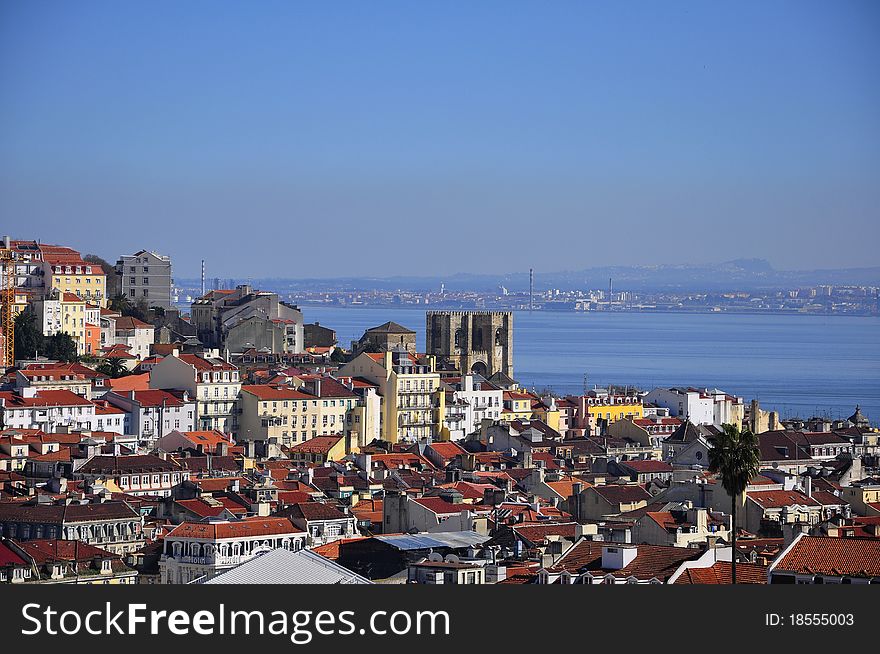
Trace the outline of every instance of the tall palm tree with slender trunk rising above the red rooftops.
{"type": "Polygon", "coordinates": [[[758,474],[761,462],[758,437],[746,428],[722,425],[709,450],[709,471],[721,475],[721,485],[730,495],[730,514],[733,519],[731,543],[731,576],[736,583],[736,505],[746,490],[749,480],[758,474]]]}

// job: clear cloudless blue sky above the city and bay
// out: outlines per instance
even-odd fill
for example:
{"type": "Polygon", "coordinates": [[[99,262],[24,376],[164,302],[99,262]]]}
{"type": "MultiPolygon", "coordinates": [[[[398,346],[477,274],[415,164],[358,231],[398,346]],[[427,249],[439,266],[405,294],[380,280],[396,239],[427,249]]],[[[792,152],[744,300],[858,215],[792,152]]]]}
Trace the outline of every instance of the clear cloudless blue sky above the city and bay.
{"type": "Polygon", "coordinates": [[[870,0],[4,0],[0,224],[180,277],[877,265],[878,80],[870,0]]]}

